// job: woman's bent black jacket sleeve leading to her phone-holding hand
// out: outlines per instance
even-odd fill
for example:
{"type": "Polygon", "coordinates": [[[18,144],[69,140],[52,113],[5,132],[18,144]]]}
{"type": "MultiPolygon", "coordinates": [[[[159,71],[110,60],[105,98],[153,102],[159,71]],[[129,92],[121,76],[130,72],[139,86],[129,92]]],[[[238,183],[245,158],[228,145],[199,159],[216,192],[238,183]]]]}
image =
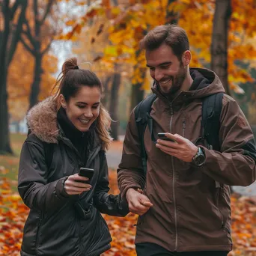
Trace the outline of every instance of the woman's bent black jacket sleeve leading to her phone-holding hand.
{"type": "Polygon", "coordinates": [[[47,183],[47,171],[43,144],[27,139],[19,159],[19,195],[27,207],[43,213],[58,209],[70,199],[64,192],[67,177],[47,183]]]}

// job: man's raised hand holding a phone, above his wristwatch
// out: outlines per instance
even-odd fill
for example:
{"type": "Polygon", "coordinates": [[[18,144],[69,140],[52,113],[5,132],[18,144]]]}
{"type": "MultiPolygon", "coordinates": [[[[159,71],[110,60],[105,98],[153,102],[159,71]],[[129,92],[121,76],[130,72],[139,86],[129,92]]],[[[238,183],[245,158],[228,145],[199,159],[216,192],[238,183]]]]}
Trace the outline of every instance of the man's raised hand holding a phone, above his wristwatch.
{"type": "Polygon", "coordinates": [[[176,142],[158,139],[156,147],[162,150],[162,152],[175,156],[184,162],[192,162],[193,156],[198,152],[198,147],[195,144],[178,134],[166,132],[165,136],[174,139],[176,142]]]}

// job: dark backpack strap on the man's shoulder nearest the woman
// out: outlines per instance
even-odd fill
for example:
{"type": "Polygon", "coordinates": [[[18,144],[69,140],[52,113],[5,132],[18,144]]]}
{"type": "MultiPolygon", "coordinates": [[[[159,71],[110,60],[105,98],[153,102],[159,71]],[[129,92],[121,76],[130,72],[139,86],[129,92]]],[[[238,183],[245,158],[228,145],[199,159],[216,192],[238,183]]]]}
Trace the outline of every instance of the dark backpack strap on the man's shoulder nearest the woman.
{"type": "Polygon", "coordinates": [[[155,139],[152,137],[153,122],[152,122],[152,118],[150,118],[151,106],[155,100],[156,100],[156,94],[150,94],[146,99],[138,103],[134,111],[135,122],[137,124],[137,129],[138,129],[138,138],[140,139],[140,142],[141,142],[141,159],[142,159],[142,165],[143,165],[145,176],[147,173],[147,153],[144,147],[144,132],[148,124],[151,138],[153,139],[153,141],[155,141],[155,139]]]}

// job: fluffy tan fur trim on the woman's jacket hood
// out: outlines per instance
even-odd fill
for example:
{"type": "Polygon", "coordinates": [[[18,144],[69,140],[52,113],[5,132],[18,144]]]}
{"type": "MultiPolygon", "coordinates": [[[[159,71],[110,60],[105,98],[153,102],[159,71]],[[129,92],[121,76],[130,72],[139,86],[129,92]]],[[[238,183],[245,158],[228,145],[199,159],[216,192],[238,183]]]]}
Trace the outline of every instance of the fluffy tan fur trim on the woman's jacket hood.
{"type": "Polygon", "coordinates": [[[31,132],[47,143],[58,143],[57,103],[48,97],[29,110],[27,123],[31,132]]]}

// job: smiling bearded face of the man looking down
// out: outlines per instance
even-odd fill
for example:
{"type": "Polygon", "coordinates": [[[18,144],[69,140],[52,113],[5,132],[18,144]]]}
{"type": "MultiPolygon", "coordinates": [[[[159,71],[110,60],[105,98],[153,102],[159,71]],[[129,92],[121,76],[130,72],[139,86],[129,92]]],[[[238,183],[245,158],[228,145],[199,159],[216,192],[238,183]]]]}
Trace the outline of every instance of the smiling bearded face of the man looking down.
{"type": "Polygon", "coordinates": [[[150,76],[159,83],[163,93],[180,91],[186,78],[186,70],[170,46],[162,43],[157,49],[146,50],[146,60],[150,76]]]}

